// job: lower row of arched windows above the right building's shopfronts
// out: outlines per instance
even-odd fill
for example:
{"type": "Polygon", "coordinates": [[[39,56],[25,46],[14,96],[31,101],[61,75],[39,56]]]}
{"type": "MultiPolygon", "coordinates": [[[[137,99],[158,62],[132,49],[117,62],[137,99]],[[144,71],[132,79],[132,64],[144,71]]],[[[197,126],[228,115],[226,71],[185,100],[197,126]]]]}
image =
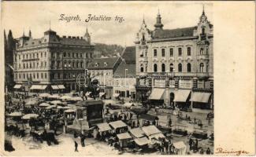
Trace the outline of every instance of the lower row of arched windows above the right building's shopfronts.
{"type": "MultiPolygon", "coordinates": [[[[154,68],[154,72],[158,72],[158,64],[154,64],[153,68],[154,68]]],[[[166,71],[165,64],[161,64],[161,72],[165,72],[165,71],[166,71]]],[[[174,71],[173,64],[169,65],[169,71],[170,72],[174,71]]],[[[205,65],[203,63],[199,64],[198,71],[199,72],[208,72],[208,65],[206,65],[206,69],[205,69],[205,65]]],[[[143,64],[140,65],[140,72],[144,72],[143,64]]],[[[147,66],[146,66],[145,72],[147,72],[147,66]]],[[[178,72],[183,72],[182,64],[178,64],[178,72]]],[[[187,64],[187,72],[191,72],[191,64],[190,63],[187,64]]]]}

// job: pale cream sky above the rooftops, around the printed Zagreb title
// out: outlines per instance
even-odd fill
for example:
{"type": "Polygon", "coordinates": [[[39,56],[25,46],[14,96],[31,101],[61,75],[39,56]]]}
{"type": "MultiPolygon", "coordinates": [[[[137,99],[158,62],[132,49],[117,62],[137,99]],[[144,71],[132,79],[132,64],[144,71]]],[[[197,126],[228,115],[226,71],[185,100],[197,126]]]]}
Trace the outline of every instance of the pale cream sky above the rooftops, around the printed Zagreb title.
{"type": "Polygon", "coordinates": [[[156,16],[161,13],[164,29],[191,27],[198,24],[205,8],[206,16],[213,24],[213,5],[210,2],[2,2],[2,27],[13,31],[19,38],[32,31],[33,38],[42,38],[49,27],[60,36],[83,36],[86,27],[91,42],[133,46],[135,35],[142,24],[154,30],[156,16]],[[59,20],[65,16],[80,16],[80,20],[59,20]],[[111,20],[90,20],[88,14],[109,16],[111,20]],[[123,17],[118,22],[115,16],[123,17]]]}

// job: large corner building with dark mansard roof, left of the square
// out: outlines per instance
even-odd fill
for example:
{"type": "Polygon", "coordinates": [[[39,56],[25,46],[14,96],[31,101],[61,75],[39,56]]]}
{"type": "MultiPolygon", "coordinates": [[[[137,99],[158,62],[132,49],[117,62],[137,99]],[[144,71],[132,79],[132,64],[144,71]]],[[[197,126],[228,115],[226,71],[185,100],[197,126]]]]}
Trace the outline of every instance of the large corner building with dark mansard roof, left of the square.
{"type": "Polygon", "coordinates": [[[87,30],[83,37],[60,37],[49,29],[37,39],[29,31],[19,38],[14,53],[14,88],[28,92],[79,90],[76,76],[84,73],[93,51],[87,30]]]}

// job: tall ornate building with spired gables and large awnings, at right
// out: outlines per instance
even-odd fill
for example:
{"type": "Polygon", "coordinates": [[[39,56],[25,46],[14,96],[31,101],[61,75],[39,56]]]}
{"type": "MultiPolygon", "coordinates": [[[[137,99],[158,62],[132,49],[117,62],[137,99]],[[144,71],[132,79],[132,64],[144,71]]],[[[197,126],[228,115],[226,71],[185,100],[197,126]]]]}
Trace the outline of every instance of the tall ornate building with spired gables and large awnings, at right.
{"type": "Polygon", "coordinates": [[[213,108],[213,24],[203,10],[193,27],[154,30],[145,20],[136,35],[136,93],[151,104],[213,108]]]}

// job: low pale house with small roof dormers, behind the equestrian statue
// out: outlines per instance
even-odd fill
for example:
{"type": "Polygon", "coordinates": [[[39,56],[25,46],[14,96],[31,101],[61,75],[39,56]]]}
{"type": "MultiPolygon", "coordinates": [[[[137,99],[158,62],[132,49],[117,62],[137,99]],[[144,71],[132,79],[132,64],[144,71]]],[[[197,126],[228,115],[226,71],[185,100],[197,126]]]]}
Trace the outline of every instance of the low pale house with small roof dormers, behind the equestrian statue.
{"type": "Polygon", "coordinates": [[[113,74],[121,64],[121,57],[95,58],[88,66],[91,77],[98,79],[100,93],[113,97],[113,74]]]}

